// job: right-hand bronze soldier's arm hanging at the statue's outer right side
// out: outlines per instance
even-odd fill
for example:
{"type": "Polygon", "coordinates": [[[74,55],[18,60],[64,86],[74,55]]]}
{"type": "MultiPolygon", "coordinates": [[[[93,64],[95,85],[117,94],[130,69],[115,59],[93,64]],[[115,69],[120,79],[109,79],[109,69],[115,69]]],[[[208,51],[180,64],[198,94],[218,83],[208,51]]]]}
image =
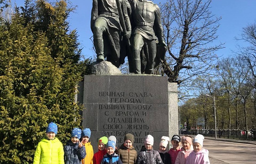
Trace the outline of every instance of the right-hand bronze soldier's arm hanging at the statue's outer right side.
{"type": "Polygon", "coordinates": [[[165,45],[163,28],[161,24],[161,13],[158,6],[156,6],[156,10],[155,10],[154,26],[155,26],[155,34],[156,34],[156,37],[158,38],[159,43],[165,45]]]}

